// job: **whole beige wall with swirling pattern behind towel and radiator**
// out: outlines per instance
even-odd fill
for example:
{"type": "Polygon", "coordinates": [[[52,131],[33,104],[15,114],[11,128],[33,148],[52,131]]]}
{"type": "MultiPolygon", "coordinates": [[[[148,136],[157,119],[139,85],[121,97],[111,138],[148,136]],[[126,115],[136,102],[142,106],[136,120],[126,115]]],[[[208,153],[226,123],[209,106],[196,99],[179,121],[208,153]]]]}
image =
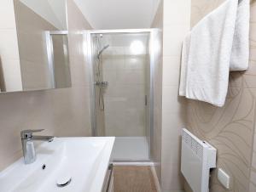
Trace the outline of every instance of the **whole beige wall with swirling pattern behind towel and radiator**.
{"type": "MultiPolygon", "coordinates": [[[[201,20],[224,0],[192,0],[191,23],[201,20]]],[[[218,149],[217,166],[231,177],[231,189],[227,190],[212,172],[211,192],[255,191],[255,163],[251,167],[256,104],[256,2],[251,2],[250,65],[248,71],[232,72],[230,88],[223,108],[203,102],[188,100],[189,130],[207,140],[218,149]],[[254,179],[254,180],[253,180],[254,179]]]]}

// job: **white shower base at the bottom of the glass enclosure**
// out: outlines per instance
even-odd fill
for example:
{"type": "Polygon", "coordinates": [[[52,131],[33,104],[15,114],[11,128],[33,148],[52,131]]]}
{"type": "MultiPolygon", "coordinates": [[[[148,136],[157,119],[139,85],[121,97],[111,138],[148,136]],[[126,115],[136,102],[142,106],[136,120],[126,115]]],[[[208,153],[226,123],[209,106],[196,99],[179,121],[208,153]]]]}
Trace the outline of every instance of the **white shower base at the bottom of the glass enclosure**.
{"type": "Polygon", "coordinates": [[[146,137],[117,137],[113,144],[113,161],[149,161],[146,137]]]}

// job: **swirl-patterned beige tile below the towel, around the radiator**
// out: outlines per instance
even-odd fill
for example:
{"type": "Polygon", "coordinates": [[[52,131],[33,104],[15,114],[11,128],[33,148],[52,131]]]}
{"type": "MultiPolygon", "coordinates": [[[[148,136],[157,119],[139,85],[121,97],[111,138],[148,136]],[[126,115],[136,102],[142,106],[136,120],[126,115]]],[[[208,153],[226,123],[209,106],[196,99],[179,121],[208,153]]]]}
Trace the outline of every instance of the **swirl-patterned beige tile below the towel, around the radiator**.
{"type": "MultiPolygon", "coordinates": [[[[189,130],[218,149],[218,167],[230,174],[231,191],[248,191],[255,96],[256,89],[230,88],[224,108],[189,101],[189,130]]],[[[212,175],[211,191],[225,191],[218,183],[216,171],[212,175]]]]}

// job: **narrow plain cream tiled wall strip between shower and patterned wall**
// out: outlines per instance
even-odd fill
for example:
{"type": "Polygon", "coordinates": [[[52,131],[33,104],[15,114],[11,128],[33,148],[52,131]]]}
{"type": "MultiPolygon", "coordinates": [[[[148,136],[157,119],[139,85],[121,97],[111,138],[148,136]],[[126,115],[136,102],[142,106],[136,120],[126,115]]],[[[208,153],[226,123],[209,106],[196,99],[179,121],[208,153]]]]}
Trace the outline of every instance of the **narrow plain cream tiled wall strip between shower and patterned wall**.
{"type": "Polygon", "coordinates": [[[190,0],[164,1],[162,191],[183,189],[180,134],[185,126],[186,99],[178,97],[181,48],[190,29],[190,0]]]}

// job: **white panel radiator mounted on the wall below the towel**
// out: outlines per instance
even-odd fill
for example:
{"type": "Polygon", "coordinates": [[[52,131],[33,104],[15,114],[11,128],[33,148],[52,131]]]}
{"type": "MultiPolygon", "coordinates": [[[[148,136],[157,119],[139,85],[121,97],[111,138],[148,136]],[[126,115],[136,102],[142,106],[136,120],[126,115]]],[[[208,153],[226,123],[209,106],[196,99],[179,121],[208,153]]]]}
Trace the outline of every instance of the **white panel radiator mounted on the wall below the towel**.
{"type": "Polygon", "coordinates": [[[183,128],[181,172],[194,192],[209,191],[210,169],[216,167],[217,150],[183,128]]]}

